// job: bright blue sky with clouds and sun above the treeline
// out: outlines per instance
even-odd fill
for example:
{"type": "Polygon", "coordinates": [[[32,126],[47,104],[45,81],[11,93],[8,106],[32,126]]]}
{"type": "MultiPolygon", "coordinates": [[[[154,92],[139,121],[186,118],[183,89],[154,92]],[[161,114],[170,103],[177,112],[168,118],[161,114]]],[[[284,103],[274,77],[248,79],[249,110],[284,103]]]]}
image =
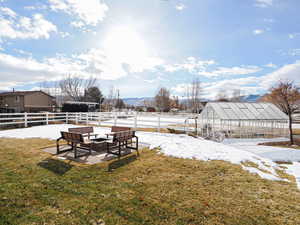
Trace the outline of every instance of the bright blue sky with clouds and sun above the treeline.
{"type": "Polygon", "coordinates": [[[38,90],[67,75],[104,94],[205,98],[300,84],[299,0],[0,0],[0,90],[38,90]]]}

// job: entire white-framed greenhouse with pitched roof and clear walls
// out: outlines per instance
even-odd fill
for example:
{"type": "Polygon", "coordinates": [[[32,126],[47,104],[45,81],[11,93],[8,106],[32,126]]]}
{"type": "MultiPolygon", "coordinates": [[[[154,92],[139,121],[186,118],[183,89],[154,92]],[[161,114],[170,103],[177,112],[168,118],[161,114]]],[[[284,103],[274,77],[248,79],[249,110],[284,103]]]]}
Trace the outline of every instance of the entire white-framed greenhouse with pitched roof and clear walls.
{"type": "Polygon", "coordinates": [[[272,103],[210,102],[199,116],[203,136],[253,138],[288,135],[288,116],[272,103]]]}

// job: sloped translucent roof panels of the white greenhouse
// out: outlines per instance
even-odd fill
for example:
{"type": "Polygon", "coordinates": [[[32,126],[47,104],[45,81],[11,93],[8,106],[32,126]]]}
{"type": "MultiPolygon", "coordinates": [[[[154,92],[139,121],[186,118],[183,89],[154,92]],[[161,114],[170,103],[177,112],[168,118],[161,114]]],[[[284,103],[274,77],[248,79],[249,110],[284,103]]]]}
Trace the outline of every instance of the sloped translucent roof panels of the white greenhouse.
{"type": "Polygon", "coordinates": [[[224,120],[288,120],[288,117],[272,103],[210,102],[202,111],[213,110],[224,120]]]}

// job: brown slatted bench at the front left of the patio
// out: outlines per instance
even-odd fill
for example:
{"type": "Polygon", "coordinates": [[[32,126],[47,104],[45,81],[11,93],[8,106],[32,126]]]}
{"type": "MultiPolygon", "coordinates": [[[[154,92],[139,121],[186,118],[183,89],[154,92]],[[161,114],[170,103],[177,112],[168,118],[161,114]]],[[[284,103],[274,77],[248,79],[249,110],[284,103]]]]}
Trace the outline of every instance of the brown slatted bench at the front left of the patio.
{"type": "Polygon", "coordinates": [[[92,153],[93,142],[90,140],[84,140],[82,134],[65,132],[65,131],[61,131],[60,133],[61,133],[61,137],[56,140],[57,154],[74,150],[74,158],[78,158],[81,156],[90,155],[92,153]],[[60,146],[59,146],[60,140],[65,140],[68,143],[68,145],[71,146],[71,148],[60,150],[60,146]],[[78,151],[77,151],[78,149],[85,150],[87,151],[87,153],[78,155],[78,151]]]}

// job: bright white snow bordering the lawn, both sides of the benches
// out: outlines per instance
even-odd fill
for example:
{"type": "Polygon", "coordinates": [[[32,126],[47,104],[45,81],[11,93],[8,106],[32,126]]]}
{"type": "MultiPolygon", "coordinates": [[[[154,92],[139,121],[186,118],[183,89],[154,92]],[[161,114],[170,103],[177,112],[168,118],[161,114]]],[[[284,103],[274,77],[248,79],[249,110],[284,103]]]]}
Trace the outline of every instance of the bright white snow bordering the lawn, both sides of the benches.
{"type": "MultiPolygon", "coordinates": [[[[57,139],[60,137],[60,131],[66,131],[70,127],[75,126],[62,124],[5,130],[0,131],[0,137],[57,139]]],[[[94,127],[94,131],[104,136],[110,129],[94,127]]],[[[140,142],[149,144],[151,149],[160,148],[161,153],[168,156],[205,161],[224,160],[234,164],[250,161],[257,164],[259,169],[268,172],[266,173],[253,167],[243,166],[245,170],[256,173],[265,179],[282,180],[275,171],[275,169],[279,169],[276,163],[237,146],[225,145],[200,138],[197,139],[184,134],[137,132],[137,136],[140,142]]]]}

